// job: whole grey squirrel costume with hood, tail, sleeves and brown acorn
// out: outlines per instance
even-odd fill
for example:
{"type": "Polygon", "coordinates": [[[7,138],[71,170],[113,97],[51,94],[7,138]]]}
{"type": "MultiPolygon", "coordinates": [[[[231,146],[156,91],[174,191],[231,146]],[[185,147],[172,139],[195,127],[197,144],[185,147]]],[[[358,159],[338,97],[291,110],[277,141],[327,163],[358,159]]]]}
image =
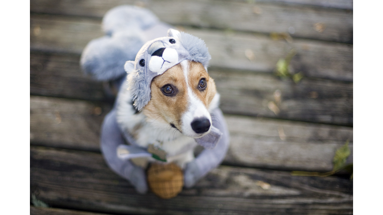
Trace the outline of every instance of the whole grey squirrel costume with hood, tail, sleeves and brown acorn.
{"type": "MultiPolygon", "coordinates": [[[[149,182],[157,195],[172,198],[181,192],[182,186],[192,187],[222,162],[229,145],[229,133],[221,110],[208,108],[214,120],[209,132],[202,137],[187,137],[175,128],[178,131],[166,137],[168,139],[149,140],[149,137],[138,138],[134,129],[146,120],[142,110],[151,100],[152,80],[184,60],[202,64],[207,72],[211,58],[208,49],[201,39],[174,30],[151,11],[136,6],[112,8],[104,16],[102,28],[106,35],[88,43],[80,63],[86,74],[112,83],[119,91],[113,109],[102,124],[101,151],[105,161],[114,172],[130,181],[137,192],[146,193],[149,182]],[[175,141],[172,138],[184,138],[188,143],[170,154],[166,146],[161,147],[163,142],[175,141]],[[171,162],[197,145],[205,149],[196,158],[179,165],[171,162]],[[137,158],[148,158],[153,163],[151,169],[146,172],[145,166],[135,164],[137,158]],[[159,164],[168,166],[164,169],[159,164]],[[174,180],[177,183],[172,184],[178,188],[162,195],[161,186],[173,185],[159,184],[158,180],[174,180]]],[[[214,100],[218,104],[218,93],[214,100]]],[[[142,129],[147,128],[149,136],[155,138],[156,131],[151,130],[149,124],[145,126],[142,129]]],[[[158,135],[166,136],[161,132],[158,135]]]]}

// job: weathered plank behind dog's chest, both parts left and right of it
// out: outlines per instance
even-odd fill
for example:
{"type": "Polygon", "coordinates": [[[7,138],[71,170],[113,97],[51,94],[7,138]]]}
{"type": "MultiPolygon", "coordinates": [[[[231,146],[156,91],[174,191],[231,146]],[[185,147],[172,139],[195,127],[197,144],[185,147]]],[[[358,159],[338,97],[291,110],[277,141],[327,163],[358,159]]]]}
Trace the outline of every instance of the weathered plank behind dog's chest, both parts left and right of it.
{"type": "MultiPolygon", "coordinates": [[[[30,97],[30,142],[50,147],[99,151],[101,115],[94,103],[30,97]]],[[[103,107],[103,106],[101,106],[103,107]]],[[[330,171],[336,149],[353,128],[344,126],[225,115],[230,132],[227,164],[258,168],[330,171]]],[[[353,162],[353,152],[348,159],[353,162]]]]}

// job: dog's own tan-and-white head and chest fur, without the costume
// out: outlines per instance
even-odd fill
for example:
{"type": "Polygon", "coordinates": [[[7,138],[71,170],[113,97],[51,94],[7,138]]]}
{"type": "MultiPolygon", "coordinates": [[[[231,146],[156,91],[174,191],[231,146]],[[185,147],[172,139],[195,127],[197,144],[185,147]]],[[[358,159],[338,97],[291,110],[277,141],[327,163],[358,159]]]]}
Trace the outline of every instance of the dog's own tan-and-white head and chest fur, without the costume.
{"type": "MultiPolygon", "coordinates": [[[[175,162],[182,169],[194,159],[195,138],[208,134],[218,108],[219,94],[214,80],[199,62],[183,60],[151,82],[151,99],[141,110],[133,106],[126,83],[116,100],[116,119],[120,128],[129,133],[135,144],[161,148],[166,162],[175,162]],[[124,89],[125,88],[125,89],[124,89]]],[[[146,168],[152,157],[131,159],[146,168]]]]}

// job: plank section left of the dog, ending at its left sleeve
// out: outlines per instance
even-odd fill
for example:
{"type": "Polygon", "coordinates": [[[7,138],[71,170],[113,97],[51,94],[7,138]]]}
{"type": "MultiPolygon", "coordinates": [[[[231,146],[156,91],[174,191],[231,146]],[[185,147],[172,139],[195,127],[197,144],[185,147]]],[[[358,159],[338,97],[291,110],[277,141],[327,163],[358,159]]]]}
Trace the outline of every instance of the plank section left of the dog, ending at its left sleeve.
{"type": "Polygon", "coordinates": [[[101,122],[110,106],[57,98],[30,98],[30,141],[99,151],[101,122]]]}

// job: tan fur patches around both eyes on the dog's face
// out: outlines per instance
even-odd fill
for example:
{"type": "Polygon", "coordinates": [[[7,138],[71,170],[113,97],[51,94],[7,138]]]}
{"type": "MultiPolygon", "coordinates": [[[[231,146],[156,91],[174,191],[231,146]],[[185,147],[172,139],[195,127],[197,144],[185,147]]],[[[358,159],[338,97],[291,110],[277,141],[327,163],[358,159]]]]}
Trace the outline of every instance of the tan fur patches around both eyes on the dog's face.
{"type": "Polygon", "coordinates": [[[188,70],[189,83],[186,83],[181,64],[177,64],[162,75],[156,76],[151,83],[151,100],[143,109],[143,113],[150,119],[173,123],[181,132],[181,117],[189,105],[187,85],[206,108],[216,93],[214,80],[209,77],[201,63],[189,61],[188,70]],[[203,92],[198,90],[198,83],[201,78],[205,78],[207,82],[207,87],[203,92]],[[162,87],[167,84],[177,87],[176,96],[168,97],[162,93],[162,87]]]}

